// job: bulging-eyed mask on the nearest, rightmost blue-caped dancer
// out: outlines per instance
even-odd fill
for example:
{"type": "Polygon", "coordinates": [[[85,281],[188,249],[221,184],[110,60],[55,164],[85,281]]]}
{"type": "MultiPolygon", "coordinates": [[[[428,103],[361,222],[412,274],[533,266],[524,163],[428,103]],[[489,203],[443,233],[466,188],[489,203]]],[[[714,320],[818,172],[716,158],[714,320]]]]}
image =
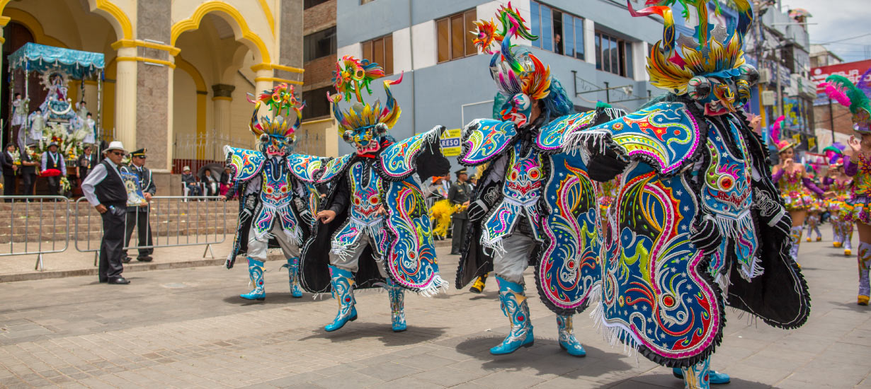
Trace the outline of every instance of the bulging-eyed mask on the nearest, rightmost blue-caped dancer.
{"type": "Polygon", "coordinates": [[[707,116],[719,116],[737,111],[750,99],[750,89],[759,82],[759,72],[743,64],[730,71],[708,77],[692,77],[687,83],[687,96],[705,107],[707,116]]]}

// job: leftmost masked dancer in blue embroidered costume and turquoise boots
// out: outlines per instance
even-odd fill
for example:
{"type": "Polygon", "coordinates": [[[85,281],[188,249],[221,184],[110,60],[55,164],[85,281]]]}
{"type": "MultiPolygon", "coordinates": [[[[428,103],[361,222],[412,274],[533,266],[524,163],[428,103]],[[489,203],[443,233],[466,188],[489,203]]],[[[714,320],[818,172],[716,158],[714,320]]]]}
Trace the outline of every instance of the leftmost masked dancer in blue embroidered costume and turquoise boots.
{"type": "Polygon", "coordinates": [[[307,180],[321,167],[321,159],[290,154],[296,130],[302,121],[302,107],[294,96],[294,86],[280,84],[273,91],[263,91],[254,104],[248,128],[258,137],[259,151],[224,146],[229,181],[233,185],[225,198],[240,196],[239,226],[233,252],[226,268],[233,268],[236,257],[248,259],[248,275],[253,290],[241,298],[263,300],[267,297],[263,281],[263,263],[270,243],[277,244],[287,258],[290,292],[302,297],[298,276],[300,247],[307,238],[312,214],[307,204],[313,197],[307,180]],[[259,116],[266,104],[274,117],[259,116]]]}

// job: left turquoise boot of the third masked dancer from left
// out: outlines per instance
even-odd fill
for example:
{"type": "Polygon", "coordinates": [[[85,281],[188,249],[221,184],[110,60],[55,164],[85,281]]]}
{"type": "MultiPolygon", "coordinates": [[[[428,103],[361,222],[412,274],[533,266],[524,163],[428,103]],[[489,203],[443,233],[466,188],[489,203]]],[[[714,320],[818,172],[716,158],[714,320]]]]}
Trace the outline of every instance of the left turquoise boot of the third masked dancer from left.
{"type": "Polygon", "coordinates": [[[520,347],[530,347],[535,338],[532,336],[532,322],[530,322],[530,305],[526,303],[526,295],[523,294],[523,285],[506,281],[496,276],[499,284],[499,301],[502,302],[502,312],[511,323],[511,332],[508,338],[490,349],[493,355],[510,354],[520,347]]]}

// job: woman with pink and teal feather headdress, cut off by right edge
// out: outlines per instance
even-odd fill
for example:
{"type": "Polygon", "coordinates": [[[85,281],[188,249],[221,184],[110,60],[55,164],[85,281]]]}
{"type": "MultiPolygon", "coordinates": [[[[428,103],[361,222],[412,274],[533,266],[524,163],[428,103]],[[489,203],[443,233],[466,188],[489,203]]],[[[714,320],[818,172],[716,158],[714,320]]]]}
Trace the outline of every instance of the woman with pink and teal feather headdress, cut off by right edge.
{"type": "MultiPolygon", "coordinates": [[[[869,70],[871,72],[871,70],[869,70]]],[[[867,84],[866,72],[859,78],[861,84],[867,84]]],[[[861,138],[850,137],[849,157],[844,157],[844,171],[853,178],[853,221],[859,230],[859,293],[856,302],[868,305],[871,296],[871,285],[868,280],[868,269],[871,269],[871,102],[860,87],[850,82],[847,77],[832,75],[826,82],[820,84],[829,97],[848,106],[853,114],[853,129],[861,138]]]]}

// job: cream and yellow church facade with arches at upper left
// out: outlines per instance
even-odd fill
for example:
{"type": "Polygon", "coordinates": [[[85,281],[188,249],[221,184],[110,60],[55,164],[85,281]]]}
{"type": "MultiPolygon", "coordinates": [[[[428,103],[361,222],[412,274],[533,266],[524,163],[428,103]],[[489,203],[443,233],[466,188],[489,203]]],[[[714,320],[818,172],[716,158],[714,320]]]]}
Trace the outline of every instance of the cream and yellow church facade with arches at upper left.
{"type": "MultiPolygon", "coordinates": [[[[0,15],[3,58],[27,42],[105,55],[104,138],[147,148],[157,173],[253,146],[247,94],[303,84],[303,0],[0,0],[0,15]]],[[[97,83],[80,93],[94,111],[97,83]]],[[[334,155],[329,127],[304,125],[296,151],[334,155]]]]}

